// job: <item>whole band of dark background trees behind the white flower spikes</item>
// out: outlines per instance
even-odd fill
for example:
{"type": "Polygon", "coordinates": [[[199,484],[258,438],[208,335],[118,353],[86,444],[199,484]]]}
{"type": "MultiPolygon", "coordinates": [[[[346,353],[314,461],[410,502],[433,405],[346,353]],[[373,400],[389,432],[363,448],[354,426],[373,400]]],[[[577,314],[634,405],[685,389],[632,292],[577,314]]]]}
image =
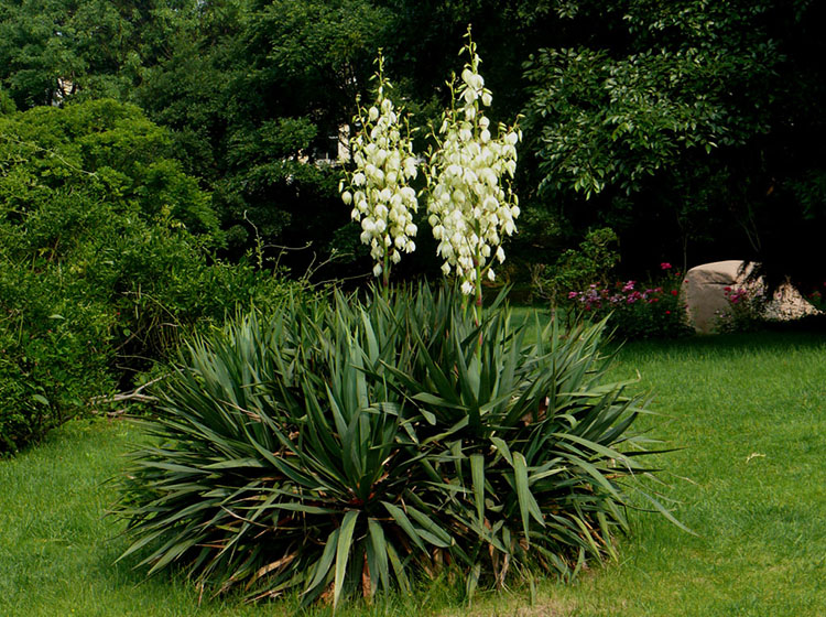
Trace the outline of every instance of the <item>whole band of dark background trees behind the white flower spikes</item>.
{"type": "Polygon", "coordinates": [[[813,0],[10,0],[0,104],[137,102],[213,193],[227,255],[258,240],[311,243],[309,259],[357,246],[334,160],[377,51],[426,127],[472,23],[493,119],[524,115],[514,255],[552,263],[610,226],[627,270],[753,258],[811,282],[826,220],[824,12],[813,0]]]}

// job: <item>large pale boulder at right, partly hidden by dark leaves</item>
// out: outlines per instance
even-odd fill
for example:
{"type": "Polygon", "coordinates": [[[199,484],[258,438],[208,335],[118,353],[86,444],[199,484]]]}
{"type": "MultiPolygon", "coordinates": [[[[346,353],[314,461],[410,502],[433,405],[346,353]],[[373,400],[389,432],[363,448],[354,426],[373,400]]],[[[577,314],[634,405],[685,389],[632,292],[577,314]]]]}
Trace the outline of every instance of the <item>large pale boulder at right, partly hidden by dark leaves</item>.
{"type": "MultiPolygon", "coordinates": [[[[746,282],[752,271],[751,263],[743,267],[740,260],[715,261],[692,268],[683,281],[688,322],[699,334],[715,332],[721,314],[731,311],[727,293],[745,290],[748,297],[762,294],[761,280],[746,282]]],[[[795,320],[817,313],[791,284],[782,285],[761,313],[767,320],[795,320]]]]}

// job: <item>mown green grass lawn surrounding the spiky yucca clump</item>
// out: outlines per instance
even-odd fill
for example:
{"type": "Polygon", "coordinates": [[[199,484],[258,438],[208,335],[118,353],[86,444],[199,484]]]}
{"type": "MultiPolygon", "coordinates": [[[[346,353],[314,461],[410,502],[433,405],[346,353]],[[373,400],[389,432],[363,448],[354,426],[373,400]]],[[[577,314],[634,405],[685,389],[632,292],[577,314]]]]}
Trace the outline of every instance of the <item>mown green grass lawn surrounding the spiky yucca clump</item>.
{"type": "MultiPolygon", "coordinates": [[[[627,345],[618,378],[653,392],[652,436],[666,490],[689,535],[656,515],[632,516],[620,563],[573,585],[483,593],[468,608],[446,583],[343,616],[815,616],[826,606],[826,337],[759,334],[627,345]]],[[[144,581],[105,518],[107,478],[141,434],[127,422],[77,421],[15,459],[0,462],[0,615],[263,616],[204,599],[185,581],[144,581]]],[[[313,613],[327,614],[319,608],[313,613]]]]}

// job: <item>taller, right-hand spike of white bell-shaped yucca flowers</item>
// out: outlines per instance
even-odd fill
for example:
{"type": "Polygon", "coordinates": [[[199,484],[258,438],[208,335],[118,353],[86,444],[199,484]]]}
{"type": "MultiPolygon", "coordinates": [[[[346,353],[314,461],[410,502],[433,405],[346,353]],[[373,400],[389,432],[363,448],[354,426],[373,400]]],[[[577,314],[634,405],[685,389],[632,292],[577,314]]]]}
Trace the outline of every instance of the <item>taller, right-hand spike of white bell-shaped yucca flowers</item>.
{"type": "Polygon", "coordinates": [[[522,136],[503,125],[498,137],[491,136],[490,120],[481,111],[490,106],[491,94],[479,75],[475,44],[469,42],[465,50],[470,62],[454,90],[454,107],[444,115],[441,148],[431,155],[427,213],[439,241],[437,255],[445,260],[443,272],[455,271],[463,293],[480,296],[481,278],[496,278],[492,259],[504,261],[503,236],[517,230],[519,202],[508,178],[515,172],[515,147],[522,136]]]}

